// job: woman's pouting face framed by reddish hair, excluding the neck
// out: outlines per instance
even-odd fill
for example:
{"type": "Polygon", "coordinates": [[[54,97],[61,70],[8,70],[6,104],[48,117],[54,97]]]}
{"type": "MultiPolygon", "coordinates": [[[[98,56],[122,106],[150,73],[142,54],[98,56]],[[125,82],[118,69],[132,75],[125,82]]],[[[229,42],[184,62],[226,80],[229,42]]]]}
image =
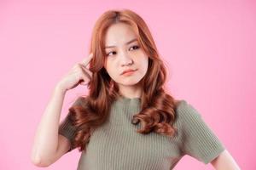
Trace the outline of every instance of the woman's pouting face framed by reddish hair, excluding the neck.
{"type": "Polygon", "coordinates": [[[148,56],[139,47],[131,26],[118,23],[108,27],[105,44],[104,68],[108,75],[122,86],[137,84],[148,70],[148,56]],[[128,69],[133,71],[122,74],[128,69]]]}

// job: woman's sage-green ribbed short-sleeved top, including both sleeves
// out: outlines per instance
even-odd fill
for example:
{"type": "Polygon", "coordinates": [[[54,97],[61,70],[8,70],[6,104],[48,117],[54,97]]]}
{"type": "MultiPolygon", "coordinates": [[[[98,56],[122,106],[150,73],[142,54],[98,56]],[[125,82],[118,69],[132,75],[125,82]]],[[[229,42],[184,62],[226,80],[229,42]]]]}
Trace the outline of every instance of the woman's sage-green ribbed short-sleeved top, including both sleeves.
{"type": "MultiPolygon", "coordinates": [[[[79,100],[73,105],[77,104],[79,100]]],[[[185,155],[207,164],[224,150],[224,144],[200,113],[184,99],[177,105],[175,138],[159,133],[137,133],[141,124],[134,125],[131,119],[140,111],[140,104],[139,98],[122,97],[113,102],[108,122],[96,128],[86,152],[81,152],[78,170],[170,170],[185,155]]],[[[72,145],[67,152],[74,149],[75,133],[68,116],[59,127],[59,133],[72,145]]]]}

